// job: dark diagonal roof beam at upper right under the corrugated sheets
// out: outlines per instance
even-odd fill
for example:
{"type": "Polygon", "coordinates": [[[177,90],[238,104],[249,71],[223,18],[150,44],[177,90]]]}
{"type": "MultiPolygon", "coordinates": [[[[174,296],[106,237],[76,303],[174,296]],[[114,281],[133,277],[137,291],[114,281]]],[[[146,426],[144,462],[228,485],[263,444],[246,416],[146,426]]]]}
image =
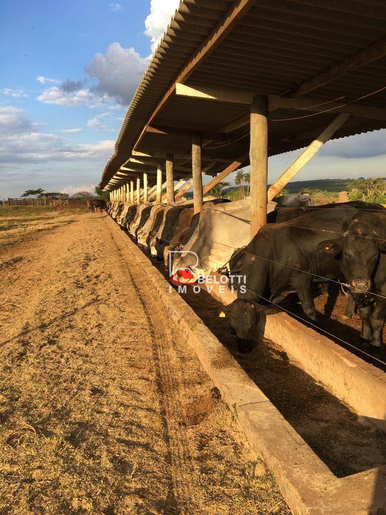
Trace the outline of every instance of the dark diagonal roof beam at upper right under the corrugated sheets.
{"type": "Polygon", "coordinates": [[[322,86],[334,82],[334,80],[343,77],[346,73],[358,70],[362,66],[377,61],[382,57],[386,56],[386,38],[374,43],[373,45],[360,50],[356,54],[347,57],[344,61],[341,61],[334,66],[330,66],[322,73],[315,75],[313,78],[305,80],[295,88],[291,88],[285,91],[282,96],[299,97],[310,91],[321,88],[322,86]]]}

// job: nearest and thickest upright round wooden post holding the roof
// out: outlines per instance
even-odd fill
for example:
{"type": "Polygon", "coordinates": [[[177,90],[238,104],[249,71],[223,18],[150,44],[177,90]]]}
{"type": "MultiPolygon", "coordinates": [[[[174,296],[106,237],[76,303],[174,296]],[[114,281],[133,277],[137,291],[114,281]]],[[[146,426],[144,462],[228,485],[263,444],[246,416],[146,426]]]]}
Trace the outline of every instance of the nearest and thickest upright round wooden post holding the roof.
{"type": "Polygon", "coordinates": [[[256,95],[251,104],[251,239],[267,223],[268,98],[256,95]]]}

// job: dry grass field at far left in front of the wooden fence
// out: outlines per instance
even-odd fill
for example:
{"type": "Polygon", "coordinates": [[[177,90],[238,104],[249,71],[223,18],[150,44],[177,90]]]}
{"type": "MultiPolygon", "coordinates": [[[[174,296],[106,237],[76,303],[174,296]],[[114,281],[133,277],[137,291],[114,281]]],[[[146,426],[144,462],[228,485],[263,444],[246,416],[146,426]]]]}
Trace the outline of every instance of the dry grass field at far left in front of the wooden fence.
{"type": "Polygon", "coordinates": [[[69,224],[85,209],[56,209],[46,206],[0,206],[0,249],[37,237],[42,231],[69,224]]]}

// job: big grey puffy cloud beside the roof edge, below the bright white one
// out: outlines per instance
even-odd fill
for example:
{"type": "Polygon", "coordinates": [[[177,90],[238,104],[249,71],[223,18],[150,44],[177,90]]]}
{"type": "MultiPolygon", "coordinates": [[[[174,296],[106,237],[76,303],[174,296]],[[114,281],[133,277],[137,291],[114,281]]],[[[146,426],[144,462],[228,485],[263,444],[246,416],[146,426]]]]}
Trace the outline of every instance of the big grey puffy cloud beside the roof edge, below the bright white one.
{"type": "Polygon", "coordinates": [[[128,105],[148,64],[149,58],[142,58],[133,47],[112,43],[104,54],[95,54],[85,66],[86,73],[98,80],[90,92],[128,105]]]}

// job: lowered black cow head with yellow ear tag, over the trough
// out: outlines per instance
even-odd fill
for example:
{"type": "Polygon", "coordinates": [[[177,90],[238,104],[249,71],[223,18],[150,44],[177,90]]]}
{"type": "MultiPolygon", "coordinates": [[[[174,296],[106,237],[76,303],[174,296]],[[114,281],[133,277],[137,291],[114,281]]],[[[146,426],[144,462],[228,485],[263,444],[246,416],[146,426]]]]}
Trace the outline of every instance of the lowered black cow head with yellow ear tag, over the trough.
{"type": "Polygon", "coordinates": [[[229,315],[231,327],[236,331],[239,352],[252,351],[251,340],[256,334],[260,317],[277,313],[277,311],[277,308],[262,306],[255,300],[243,297],[222,308],[222,312],[229,315]]]}

